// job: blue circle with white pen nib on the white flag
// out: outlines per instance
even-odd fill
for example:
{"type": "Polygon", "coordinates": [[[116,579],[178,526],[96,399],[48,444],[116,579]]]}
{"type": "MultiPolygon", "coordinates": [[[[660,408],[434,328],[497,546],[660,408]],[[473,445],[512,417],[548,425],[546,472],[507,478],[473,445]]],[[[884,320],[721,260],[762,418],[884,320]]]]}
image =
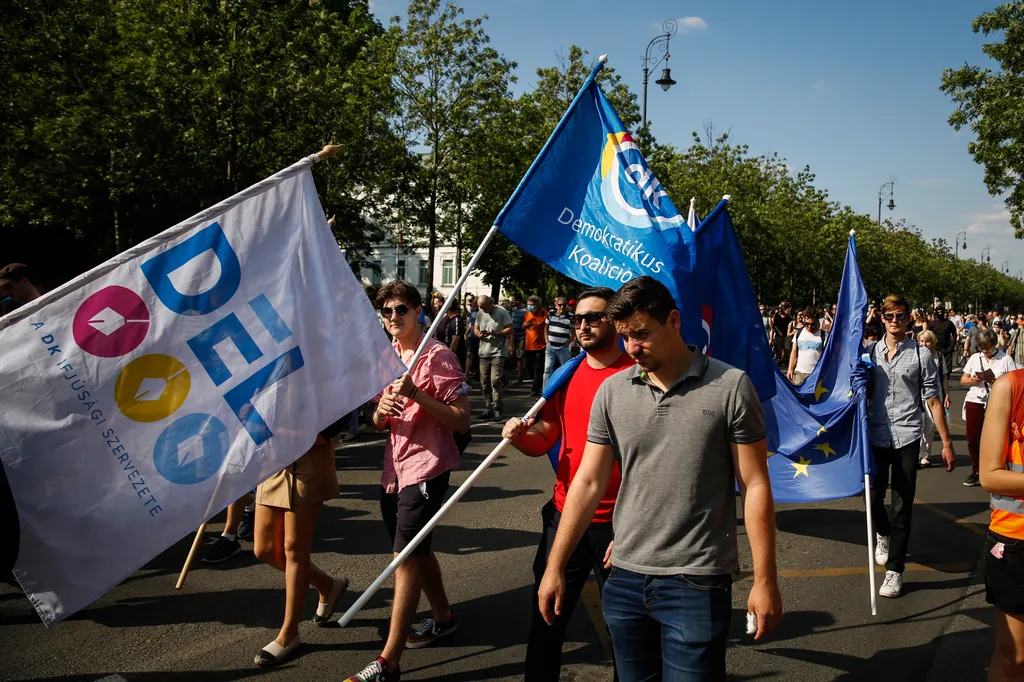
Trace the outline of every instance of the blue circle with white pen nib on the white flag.
{"type": "Polygon", "coordinates": [[[172,483],[202,483],[220,471],[229,444],[227,427],[219,419],[200,413],[185,415],[157,438],[153,463],[172,483]]]}

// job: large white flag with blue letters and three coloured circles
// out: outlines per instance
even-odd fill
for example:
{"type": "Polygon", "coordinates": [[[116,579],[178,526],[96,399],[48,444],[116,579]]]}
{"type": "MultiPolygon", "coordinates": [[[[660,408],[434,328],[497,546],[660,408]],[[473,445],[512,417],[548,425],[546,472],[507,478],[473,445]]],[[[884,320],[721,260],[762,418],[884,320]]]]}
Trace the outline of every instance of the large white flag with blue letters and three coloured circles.
{"type": "Polygon", "coordinates": [[[14,576],[48,627],[404,371],[303,160],[0,318],[14,576]]]}

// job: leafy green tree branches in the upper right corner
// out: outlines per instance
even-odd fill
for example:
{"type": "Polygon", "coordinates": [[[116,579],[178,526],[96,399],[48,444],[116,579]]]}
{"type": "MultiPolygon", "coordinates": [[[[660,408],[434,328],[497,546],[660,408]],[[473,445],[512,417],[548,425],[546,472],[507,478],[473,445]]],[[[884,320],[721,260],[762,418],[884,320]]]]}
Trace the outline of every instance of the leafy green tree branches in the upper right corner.
{"type": "Polygon", "coordinates": [[[972,25],[975,33],[1002,33],[1002,40],[982,51],[997,71],[965,65],[942,73],[942,91],[956,104],[949,125],[975,134],[968,152],[985,168],[993,196],[1006,194],[1010,222],[1024,238],[1024,3],[1008,2],[986,11],[972,25]]]}

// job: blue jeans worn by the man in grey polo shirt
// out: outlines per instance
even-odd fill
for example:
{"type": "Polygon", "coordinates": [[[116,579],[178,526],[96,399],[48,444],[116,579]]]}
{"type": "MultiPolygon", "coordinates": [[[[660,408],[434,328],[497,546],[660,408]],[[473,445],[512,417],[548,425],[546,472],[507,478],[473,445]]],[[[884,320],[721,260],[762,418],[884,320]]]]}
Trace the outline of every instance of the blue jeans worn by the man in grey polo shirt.
{"type": "Polygon", "coordinates": [[[601,600],[620,679],[724,682],[731,576],[642,576],[614,567],[601,600]]]}

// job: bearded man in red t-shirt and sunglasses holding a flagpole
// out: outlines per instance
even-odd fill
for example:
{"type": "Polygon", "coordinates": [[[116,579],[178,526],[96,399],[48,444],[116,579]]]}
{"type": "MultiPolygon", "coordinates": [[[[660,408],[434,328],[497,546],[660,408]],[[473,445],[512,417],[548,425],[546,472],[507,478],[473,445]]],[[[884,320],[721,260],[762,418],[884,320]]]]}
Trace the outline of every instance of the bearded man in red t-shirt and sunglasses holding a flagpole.
{"type": "MultiPolygon", "coordinates": [[[[503,437],[509,438],[512,445],[529,457],[546,455],[561,438],[554,497],[541,512],[544,528],[537,548],[537,558],[534,559],[537,586],[544,578],[548,553],[558,532],[565,495],[580,468],[583,451],[587,445],[587,427],[590,424],[594,395],[605,379],[633,366],[633,360],[618,346],[614,326],[604,316],[604,308],[614,294],[607,287],[595,287],[580,295],[575,314],[571,319],[580,345],[587,351],[587,358],[580,364],[568,384],[544,407],[538,419],[529,423],[510,419],[502,430],[503,437]]],[[[562,598],[561,612],[552,626],[545,623],[541,615],[535,586],[534,615],[529,642],[526,645],[526,682],[557,682],[565,628],[583,587],[592,570],[597,576],[598,587],[604,585],[604,580],[610,572],[613,537],[611,512],[618,494],[618,481],[616,464],[608,481],[608,489],[597,507],[587,535],[565,566],[565,596],[562,598]]]]}

